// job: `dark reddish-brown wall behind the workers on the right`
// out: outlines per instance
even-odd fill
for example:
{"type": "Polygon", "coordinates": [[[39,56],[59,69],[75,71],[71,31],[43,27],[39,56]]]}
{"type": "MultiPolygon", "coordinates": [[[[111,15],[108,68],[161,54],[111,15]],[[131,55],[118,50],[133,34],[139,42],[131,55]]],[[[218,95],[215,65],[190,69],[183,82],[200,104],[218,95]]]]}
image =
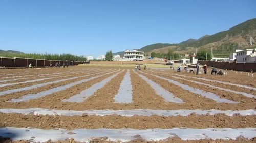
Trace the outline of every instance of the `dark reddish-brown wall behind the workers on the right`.
{"type": "Polygon", "coordinates": [[[237,62],[216,62],[216,61],[198,61],[199,64],[218,68],[227,69],[235,71],[246,71],[246,72],[256,72],[256,63],[237,63],[237,62]]]}

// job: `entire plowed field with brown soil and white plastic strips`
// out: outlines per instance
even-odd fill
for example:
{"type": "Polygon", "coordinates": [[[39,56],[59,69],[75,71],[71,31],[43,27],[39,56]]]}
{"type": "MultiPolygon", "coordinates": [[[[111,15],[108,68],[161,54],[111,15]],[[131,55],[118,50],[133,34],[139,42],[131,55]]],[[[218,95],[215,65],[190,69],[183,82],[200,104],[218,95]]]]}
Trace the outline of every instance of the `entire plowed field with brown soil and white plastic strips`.
{"type": "Polygon", "coordinates": [[[0,70],[0,142],[255,142],[256,75],[225,72],[0,70]]]}

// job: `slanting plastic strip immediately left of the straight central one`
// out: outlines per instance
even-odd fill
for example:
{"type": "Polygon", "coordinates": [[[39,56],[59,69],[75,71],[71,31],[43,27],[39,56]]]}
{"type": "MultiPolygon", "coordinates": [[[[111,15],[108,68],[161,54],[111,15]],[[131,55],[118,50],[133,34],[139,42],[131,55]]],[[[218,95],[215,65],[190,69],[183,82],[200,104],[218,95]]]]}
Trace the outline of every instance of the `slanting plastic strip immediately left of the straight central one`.
{"type": "Polygon", "coordinates": [[[104,87],[112,78],[116,77],[118,74],[119,73],[111,75],[110,77],[102,80],[101,82],[92,85],[92,87],[81,91],[79,94],[76,94],[70,97],[69,99],[63,99],[62,102],[77,102],[77,103],[83,102],[88,97],[92,96],[93,93],[95,93],[98,89],[104,87]]]}

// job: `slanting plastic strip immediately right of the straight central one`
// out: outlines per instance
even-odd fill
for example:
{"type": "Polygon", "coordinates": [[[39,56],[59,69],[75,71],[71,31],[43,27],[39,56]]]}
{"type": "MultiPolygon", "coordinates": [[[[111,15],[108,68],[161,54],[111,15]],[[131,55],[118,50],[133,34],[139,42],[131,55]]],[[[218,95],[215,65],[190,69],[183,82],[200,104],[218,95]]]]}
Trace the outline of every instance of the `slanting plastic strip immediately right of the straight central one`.
{"type": "Polygon", "coordinates": [[[175,102],[175,103],[183,103],[182,99],[175,97],[172,93],[162,88],[159,84],[154,81],[146,78],[144,75],[139,74],[139,76],[145,80],[148,84],[150,84],[151,88],[153,88],[156,94],[160,95],[164,98],[166,102],[175,102]]]}

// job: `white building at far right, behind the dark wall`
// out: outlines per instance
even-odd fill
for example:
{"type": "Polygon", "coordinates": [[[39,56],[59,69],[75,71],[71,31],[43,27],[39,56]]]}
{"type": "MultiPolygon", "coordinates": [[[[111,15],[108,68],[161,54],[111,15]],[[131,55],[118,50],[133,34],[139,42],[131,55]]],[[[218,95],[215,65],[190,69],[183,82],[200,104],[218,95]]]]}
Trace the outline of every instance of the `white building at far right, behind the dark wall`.
{"type": "Polygon", "coordinates": [[[256,49],[236,50],[237,62],[256,63],[256,49]]]}

